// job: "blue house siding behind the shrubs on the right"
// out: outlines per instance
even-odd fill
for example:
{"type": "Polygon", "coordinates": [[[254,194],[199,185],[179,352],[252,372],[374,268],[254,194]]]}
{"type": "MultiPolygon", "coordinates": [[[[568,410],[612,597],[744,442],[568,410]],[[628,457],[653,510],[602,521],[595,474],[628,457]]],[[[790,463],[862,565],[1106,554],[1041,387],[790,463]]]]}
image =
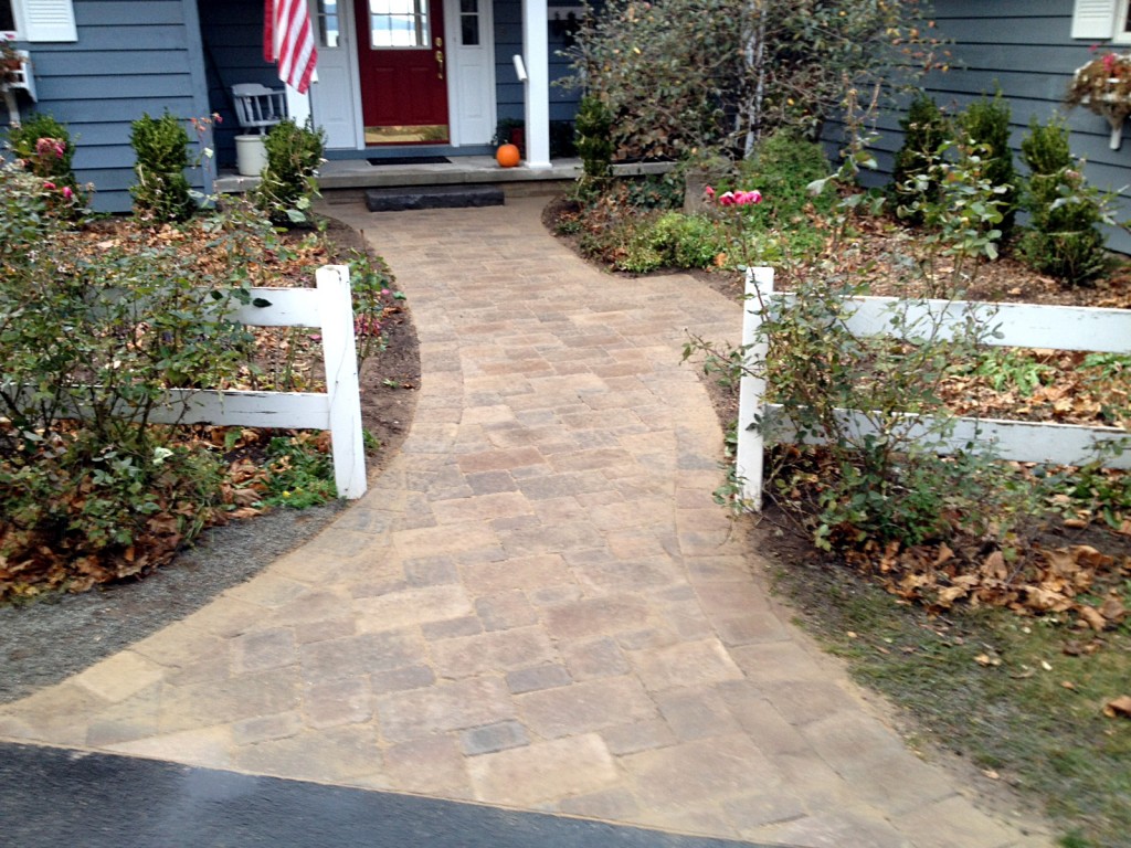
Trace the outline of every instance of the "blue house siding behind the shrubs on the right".
{"type": "MultiPolygon", "coordinates": [[[[1117,191],[1131,182],[1131,132],[1120,150],[1112,150],[1103,118],[1083,109],[1069,111],[1063,104],[1072,71],[1095,58],[1090,42],[1070,37],[1072,6],[1072,0],[935,0],[939,34],[955,42],[949,47],[953,61],[951,70],[929,75],[923,88],[955,113],[1000,86],[1012,110],[1011,146],[1021,167],[1021,139],[1029,119],[1046,121],[1060,112],[1071,129],[1072,153],[1088,161],[1088,179],[1117,191]]],[[[891,173],[893,154],[903,144],[900,116],[893,110],[880,118],[874,152],[881,173],[871,178],[873,182],[883,182],[891,173]]],[[[1131,193],[1124,197],[1125,216],[1131,213],[1131,193]]],[[[1131,235],[1113,231],[1108,245],[1131,253],[1131,235]]]]}

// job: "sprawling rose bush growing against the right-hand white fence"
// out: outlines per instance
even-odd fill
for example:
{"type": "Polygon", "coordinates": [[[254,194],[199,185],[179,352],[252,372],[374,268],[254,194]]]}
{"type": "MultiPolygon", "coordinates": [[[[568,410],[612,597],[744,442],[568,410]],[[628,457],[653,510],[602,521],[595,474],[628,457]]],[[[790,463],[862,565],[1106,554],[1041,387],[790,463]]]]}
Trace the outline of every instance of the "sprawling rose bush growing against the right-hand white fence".
{"type": "Polygon", "coordinates": [[[759,329],[769,347],[763,363],[700,339],[687,346],[685,356],[707,352],[708,370],[728,381],[744,374],[768,379],[768,399],[782,405],[782,417],[757,425],[770,443],[792,447],[770,455],[766,492],[802,514],[819,547],[899,550],[956,531],[999,543],[1011,538],[1038,512],[1024,481],[973,448],[940,456],[955,427],[940,386],[953,362],[976,355],[992,321],[972,314],[943,341],[946,310],[916,315],[921,304],[906,301],[890,310],[895,340],[858,336],[848,327],[848,298],[866,291],[863,283],[804,278],[793,298],[770,301],[759,329]],[[846,409],[858,410],[860,425],[846,409]]]}

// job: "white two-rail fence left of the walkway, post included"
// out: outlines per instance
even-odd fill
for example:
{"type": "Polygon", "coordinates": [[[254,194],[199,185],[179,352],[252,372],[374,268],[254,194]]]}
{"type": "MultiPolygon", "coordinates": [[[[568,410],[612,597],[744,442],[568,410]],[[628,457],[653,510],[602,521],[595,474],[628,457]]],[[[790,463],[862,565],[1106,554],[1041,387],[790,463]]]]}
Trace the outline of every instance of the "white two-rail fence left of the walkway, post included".
{"type": "MultiPolygon", "coordinates": [[[[317,288],[252,288],[253,302],[228,317],[251,327],[312,327],[322,335],[326,392],[170,389],[150,419],[161,424],[224,424],[244,427],[329,430],[338,496],[365,494],[365,448],[349,269],[327,265],[317,288]]],[[[205,296],[206,293],[201,293],[205,296]]]]}

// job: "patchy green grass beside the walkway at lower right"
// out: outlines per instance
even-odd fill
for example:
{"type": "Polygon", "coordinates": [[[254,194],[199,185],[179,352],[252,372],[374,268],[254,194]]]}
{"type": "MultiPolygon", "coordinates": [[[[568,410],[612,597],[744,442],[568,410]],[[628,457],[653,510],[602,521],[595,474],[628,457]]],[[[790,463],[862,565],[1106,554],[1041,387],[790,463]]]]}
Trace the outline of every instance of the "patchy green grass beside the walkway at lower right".
{"type": "Polygon", "coordinates": [[[1097,637],[1000,609],[932,620],[818,565],[783,568],[777,585],[858,682],[1039,804],[1063,846],[1131,845],[1131,720],[1103,713],[1131,694],[1131,625],[1097,637]]]}

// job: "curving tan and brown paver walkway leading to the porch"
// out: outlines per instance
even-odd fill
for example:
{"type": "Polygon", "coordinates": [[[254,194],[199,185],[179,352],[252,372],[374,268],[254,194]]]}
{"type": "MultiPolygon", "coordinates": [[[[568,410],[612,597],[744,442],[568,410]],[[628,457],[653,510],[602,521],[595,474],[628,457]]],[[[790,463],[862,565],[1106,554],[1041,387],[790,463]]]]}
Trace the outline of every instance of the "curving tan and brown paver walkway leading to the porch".
{"type": "Polygon", "coordinates": [[[542,205],[336,207],[420,332],[402,453],[0,737],[796,846],[1047,845],[909,753],[756,579],[680,365],[684,328],[733,338],[740,308],[587,267],[542,205]]]}

